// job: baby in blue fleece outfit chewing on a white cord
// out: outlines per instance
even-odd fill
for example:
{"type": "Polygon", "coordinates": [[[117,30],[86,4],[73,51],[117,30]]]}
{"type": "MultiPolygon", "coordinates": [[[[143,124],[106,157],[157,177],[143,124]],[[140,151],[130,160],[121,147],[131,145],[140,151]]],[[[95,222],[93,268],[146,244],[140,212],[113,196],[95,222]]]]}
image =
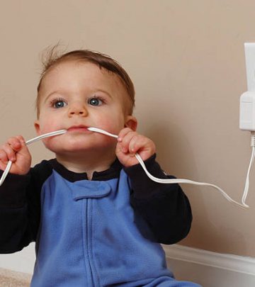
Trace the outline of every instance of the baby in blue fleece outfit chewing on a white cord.
{"type": "Polygon", "coordinates": [[[33,168],[22,136],[1,146],[0,169],[13,164],[0,187],[0,252],[35,242],[35,287],[198,286],[166,268],[160,243],[186,237],[191,207],[179,185],[151,181],[137,162],[136,152],[151,174],[173,178],[155,161],[154,142],[136,132],[130,77],[99,52],[50,55],[35,130],[67,133],[43,140],[55,159],[33,168]]]}

